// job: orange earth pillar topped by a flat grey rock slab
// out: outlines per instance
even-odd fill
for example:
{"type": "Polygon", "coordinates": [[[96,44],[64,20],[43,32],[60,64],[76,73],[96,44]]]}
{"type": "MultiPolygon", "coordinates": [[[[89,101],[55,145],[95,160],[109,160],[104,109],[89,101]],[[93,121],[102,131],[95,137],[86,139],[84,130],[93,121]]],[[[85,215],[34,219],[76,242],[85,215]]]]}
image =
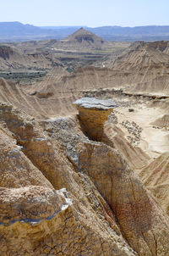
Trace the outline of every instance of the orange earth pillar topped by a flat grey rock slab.
{"type": "Polygon", "coordinates": [[[74,105],[79,110],[79,122],[82,130],[90,139],[101,142],[104,124],[113,109],[117,108],[117,103],[112,99],[82,97],[75,101],[74,105]]]}

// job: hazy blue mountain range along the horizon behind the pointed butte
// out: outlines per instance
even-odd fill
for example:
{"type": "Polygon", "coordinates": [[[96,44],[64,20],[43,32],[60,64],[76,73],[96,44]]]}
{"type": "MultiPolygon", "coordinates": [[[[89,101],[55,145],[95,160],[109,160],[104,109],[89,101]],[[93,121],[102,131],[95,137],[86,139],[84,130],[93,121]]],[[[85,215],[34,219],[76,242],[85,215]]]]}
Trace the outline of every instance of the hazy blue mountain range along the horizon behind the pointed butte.
{"type": "MultiPolygon", "coordinates": [[[[19,42],[30,40],[61,40],[77,31],[80,26],[24,25],[20,22],[0,22],[0,41],[19,42]]],[[[86,27],[88,31],[107,41],[161,41],[169,40],[169,25],[148,25],[136,27],[101,26],[86,27]]]]}

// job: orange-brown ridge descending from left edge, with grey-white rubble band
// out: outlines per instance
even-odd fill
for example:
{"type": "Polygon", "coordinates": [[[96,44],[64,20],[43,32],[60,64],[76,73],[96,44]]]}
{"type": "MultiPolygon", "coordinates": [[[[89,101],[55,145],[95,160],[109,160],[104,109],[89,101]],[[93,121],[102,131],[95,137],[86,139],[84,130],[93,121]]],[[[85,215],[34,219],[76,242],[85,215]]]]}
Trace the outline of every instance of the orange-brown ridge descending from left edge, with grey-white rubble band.
{"type": "Polygon", "coordinates": [[[35,120],[19,109],[15,109],[8,103],[0,105],[0,120],[3,120],[22,152],[30,159],[35,167],[52,182],[55,188],[59,187],[57,179],[57,160],[54,159],[55,151],[48,137],[35,120]]]}

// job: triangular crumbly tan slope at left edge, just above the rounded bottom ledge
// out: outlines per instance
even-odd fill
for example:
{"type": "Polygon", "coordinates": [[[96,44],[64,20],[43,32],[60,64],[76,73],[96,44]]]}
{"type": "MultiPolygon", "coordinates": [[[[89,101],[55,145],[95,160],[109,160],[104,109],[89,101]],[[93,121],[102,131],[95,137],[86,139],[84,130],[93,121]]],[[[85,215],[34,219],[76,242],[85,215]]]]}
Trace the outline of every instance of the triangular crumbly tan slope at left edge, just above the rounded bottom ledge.
{"type": "MultiPolygon", "coordinates": [[[[11,120],[12,124],[12,120],[11,120]]],[[[23,186],[46,186],[52,184],[46,180],[41,171],[35,168],[23,153],[22,146],[17,145],[14,134],[7,125],[0,123],[0,186],[19,188],[23,186]]]]}

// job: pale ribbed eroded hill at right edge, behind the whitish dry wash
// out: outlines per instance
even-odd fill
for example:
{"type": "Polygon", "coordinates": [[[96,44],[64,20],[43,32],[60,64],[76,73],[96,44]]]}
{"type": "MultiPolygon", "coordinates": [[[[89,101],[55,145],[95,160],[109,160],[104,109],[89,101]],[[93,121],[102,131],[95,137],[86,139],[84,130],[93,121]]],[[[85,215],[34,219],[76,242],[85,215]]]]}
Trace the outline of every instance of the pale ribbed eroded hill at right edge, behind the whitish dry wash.
{"type": "Polygon", "coordinates": [[[99,65],[114,70],[118,86],[127,92],[168,95],[168,63],[168,42],[134,42],[99,65]],[[121,76],[125,81],[119,84],[121,76]]]}

